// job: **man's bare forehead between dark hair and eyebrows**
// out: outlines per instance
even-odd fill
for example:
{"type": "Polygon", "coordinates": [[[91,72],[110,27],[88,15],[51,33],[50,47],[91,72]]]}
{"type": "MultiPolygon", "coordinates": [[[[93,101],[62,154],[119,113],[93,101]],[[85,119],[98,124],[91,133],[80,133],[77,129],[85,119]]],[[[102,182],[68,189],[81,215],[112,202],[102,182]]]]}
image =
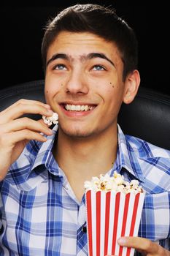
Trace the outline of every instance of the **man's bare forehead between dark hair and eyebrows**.
{"type": "Polygon", "coordinates": [[[56,53],[66,53],[71,59],[76,57],[83,59],[90,52],[100,52],[109,58],[121,59],[115,42],[108,42],[104,38],[88,32],[62,31],[48,48],[47,60],[56,53]]]}

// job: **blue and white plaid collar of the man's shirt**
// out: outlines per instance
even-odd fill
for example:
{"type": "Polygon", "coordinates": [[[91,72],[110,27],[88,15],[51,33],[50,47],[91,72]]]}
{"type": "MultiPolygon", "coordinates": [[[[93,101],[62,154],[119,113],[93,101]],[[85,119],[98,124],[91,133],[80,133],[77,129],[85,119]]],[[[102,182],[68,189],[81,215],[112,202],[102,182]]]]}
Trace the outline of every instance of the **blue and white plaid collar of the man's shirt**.
{"type": "MultiPolygon", "coordinates": [[[[34,161],[34,165],[32,165],[31,170],[34,170],[38,165],[45,165],[47,170],[54,175],[60,174],[60,168],[58,167],[57,162],[55,162],[55,158],[53,157],[52,148],[55,140],[55,135],[58,130],[58,126],[56,125],[53,128],[53,135],[47,137],[47,142],[42,143],[41,148],[39,149],[39,154],[37,154],[36,159],[34,161]]],[[[131,146],[129,143],[128,136],[123,134],[122,129],[117,124],[118,131],[118,147],[117,147],[117,159],[115,161],[115,165],[113,169],[117,169],[118,172],[121,171],[122,168],[125,168],[131,175],[135,178],[139,179],[139,181],[144,181],[144,176],[142,174],[141,167],[139,165],[139,159],[136,157],[135,148],[131,146]]]]}

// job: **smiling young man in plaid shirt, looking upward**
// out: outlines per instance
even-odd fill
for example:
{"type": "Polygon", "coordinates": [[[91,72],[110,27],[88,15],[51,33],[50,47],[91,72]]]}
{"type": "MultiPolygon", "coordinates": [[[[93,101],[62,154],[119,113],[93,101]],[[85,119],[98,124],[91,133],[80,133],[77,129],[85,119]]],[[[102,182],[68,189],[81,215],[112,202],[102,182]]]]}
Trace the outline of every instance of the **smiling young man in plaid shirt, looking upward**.
{"type": "Polygon", "coordinates": [[[88,255],[83,184],[115,170],[147,192],[139,237],[118,243],[170,255],[170,152],[117,125],[139,88],[134,32],[107,8],[69,7],[47,26],[42,60],[47,105],[21,99],[0,113],[1,255],[88,255]],[[53,112],[53,131],[20,118],[53,112]]]}

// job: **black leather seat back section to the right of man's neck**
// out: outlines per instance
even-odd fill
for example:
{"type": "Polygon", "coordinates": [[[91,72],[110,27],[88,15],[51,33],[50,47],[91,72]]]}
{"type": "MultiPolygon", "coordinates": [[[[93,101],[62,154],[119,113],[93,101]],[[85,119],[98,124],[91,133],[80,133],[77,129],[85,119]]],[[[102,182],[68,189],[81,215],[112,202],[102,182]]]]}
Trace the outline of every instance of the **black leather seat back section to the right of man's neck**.
{"type": "Polygon", "coordinates": [[[134,102],[123,104],[118,123],[123,132],[170,150],[170,96],[140,88],[134,102]]]}

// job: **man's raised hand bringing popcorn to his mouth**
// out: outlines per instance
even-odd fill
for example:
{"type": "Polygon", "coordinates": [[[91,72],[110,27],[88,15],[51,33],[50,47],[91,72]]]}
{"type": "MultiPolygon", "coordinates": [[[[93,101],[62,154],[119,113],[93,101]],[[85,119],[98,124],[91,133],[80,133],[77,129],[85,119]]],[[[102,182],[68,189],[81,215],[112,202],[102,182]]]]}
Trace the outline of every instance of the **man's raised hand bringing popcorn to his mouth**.
{"type": "Polygon", "coordinates": [[[53,115],[49,105],[27,99],[20,99],[0,113],[0,180],[6,176],[9,166],[18,159],[29,140],[45,142],[42,134],[52,134],[43,121],[22,117],[28,113],[53,115]]]}

